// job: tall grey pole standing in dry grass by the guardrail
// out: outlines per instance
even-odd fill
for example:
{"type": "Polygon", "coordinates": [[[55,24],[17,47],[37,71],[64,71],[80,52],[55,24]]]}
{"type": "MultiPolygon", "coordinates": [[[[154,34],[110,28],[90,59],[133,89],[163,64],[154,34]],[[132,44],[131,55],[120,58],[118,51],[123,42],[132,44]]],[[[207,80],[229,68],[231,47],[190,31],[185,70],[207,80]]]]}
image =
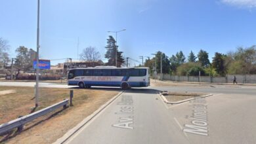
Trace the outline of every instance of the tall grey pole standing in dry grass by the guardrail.
{"type": "Polygon", "coordinates": [[[39,86],[39,16],[40,16],[40,0],[37,0],[37,74],[35,77],[35,107],[38,107],[38,86],[39,86]]]}

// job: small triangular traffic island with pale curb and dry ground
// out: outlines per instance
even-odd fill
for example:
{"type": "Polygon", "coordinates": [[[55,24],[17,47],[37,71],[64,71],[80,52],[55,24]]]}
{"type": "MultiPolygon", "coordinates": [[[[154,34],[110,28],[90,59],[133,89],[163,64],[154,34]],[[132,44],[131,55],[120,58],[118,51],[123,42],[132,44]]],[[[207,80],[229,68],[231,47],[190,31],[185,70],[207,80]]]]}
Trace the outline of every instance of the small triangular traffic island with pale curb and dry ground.
{"type": "Polygon", "coordinates": [[[191,101],[193,99],[213,96],[213,94],[161,91],[160,96],[165,103],[179,104],[179,103],[184,103],[186,101],[191,101]]]}

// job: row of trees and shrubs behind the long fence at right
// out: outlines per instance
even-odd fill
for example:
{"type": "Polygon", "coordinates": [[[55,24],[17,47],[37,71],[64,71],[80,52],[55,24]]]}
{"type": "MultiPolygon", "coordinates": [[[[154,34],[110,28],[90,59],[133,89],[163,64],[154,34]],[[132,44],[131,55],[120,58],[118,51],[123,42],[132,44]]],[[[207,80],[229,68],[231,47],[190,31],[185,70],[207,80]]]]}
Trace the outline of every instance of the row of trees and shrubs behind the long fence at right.
{"type": "Polygon", "coordinates": [[[192,50],[186,58],[182,51],[171,55],[169,58],[163,52],[157,52],[156,57],[145,62],[146,67],[150,67],[153,73],[153,66],[160,73],[160,63],[162,55],[163,73],[171,75],[197,76],[211,75],[213,77],[224,76],[226,74],[256,74],[256,46],[238,47],[234,52],[221,54],[215,52],[212,62],[209,61],[209,54],[205,50],[200,50],[196,56],[192,50]],[[155,64],[156,63],[156,64],[155,64]]]}

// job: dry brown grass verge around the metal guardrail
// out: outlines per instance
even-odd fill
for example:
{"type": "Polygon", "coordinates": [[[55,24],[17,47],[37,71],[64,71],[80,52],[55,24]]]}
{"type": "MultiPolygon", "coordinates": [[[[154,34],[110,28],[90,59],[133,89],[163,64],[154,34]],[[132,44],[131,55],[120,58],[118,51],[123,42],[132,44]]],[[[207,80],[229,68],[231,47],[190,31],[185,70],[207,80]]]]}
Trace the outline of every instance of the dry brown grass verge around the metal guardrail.
{"type": "MultiPolygon", "coordinates": [[[[18,94],[1,96],[0,124],[9,122],[20,115],[28,115],[34,105],[32,87],[0,86],[0,90],[7,89],[16,90],[18,94]]],[[[39,107],[36,110],[38,111],[62,101],[64,98],[68,98],[70,90],[64,88],[40,88],[39,107]]],[[[73,107],[68,107],[65,110],[58,109],[53,113],[37,118],[33,122],[26,124],[22,133],[13,132],[8,135],[8,140],[5,140],[7,135],[3,135],[3,137],[0,137],[0,141],[7,143],[53,143],[121,91],[119,89],[96,88],[75,88],[73,90],[73,107]]]]}

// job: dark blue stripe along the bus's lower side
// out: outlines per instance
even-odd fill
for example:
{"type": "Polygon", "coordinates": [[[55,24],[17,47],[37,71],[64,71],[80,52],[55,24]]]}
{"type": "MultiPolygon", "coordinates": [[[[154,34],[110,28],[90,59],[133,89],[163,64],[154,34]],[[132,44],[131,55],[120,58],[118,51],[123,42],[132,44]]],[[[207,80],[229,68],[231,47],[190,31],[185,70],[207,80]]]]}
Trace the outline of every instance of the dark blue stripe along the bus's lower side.
{"type": "MultiPolygon", "coordinates": [[[[129,78],[128,78],[129,79],[129,78]]],[[[79,81],[69,81],[68,85],[78,85],[79,81]]],[[[102,81],[84,81],[85,84],[89,84],[90,86],[121,86],[120,81],[116,82],[102,82],[102,81]]],[[[148,82],[127,82],[132,87],[143,87],[148,86],[148,82]]]]}

